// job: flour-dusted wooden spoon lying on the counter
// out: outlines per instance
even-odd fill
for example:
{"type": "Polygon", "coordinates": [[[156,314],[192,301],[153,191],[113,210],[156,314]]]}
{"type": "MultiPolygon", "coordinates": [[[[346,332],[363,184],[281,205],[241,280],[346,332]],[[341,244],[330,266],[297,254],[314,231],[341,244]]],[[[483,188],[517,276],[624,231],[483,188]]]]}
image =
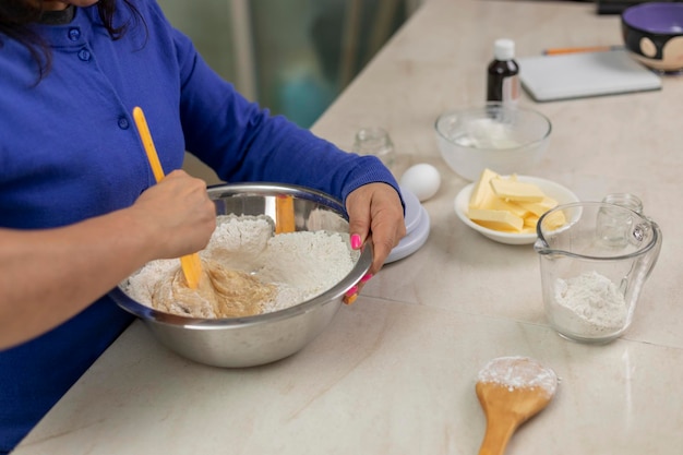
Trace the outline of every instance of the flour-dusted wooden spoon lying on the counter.
{"type": "Polygon", "coordinates": [[[480,372],[477,397],[487,416],[479,455],[503,455],[510,438],[540,412],[558,388],[554,371],[527,357],[501,357],[480,372]]]}

